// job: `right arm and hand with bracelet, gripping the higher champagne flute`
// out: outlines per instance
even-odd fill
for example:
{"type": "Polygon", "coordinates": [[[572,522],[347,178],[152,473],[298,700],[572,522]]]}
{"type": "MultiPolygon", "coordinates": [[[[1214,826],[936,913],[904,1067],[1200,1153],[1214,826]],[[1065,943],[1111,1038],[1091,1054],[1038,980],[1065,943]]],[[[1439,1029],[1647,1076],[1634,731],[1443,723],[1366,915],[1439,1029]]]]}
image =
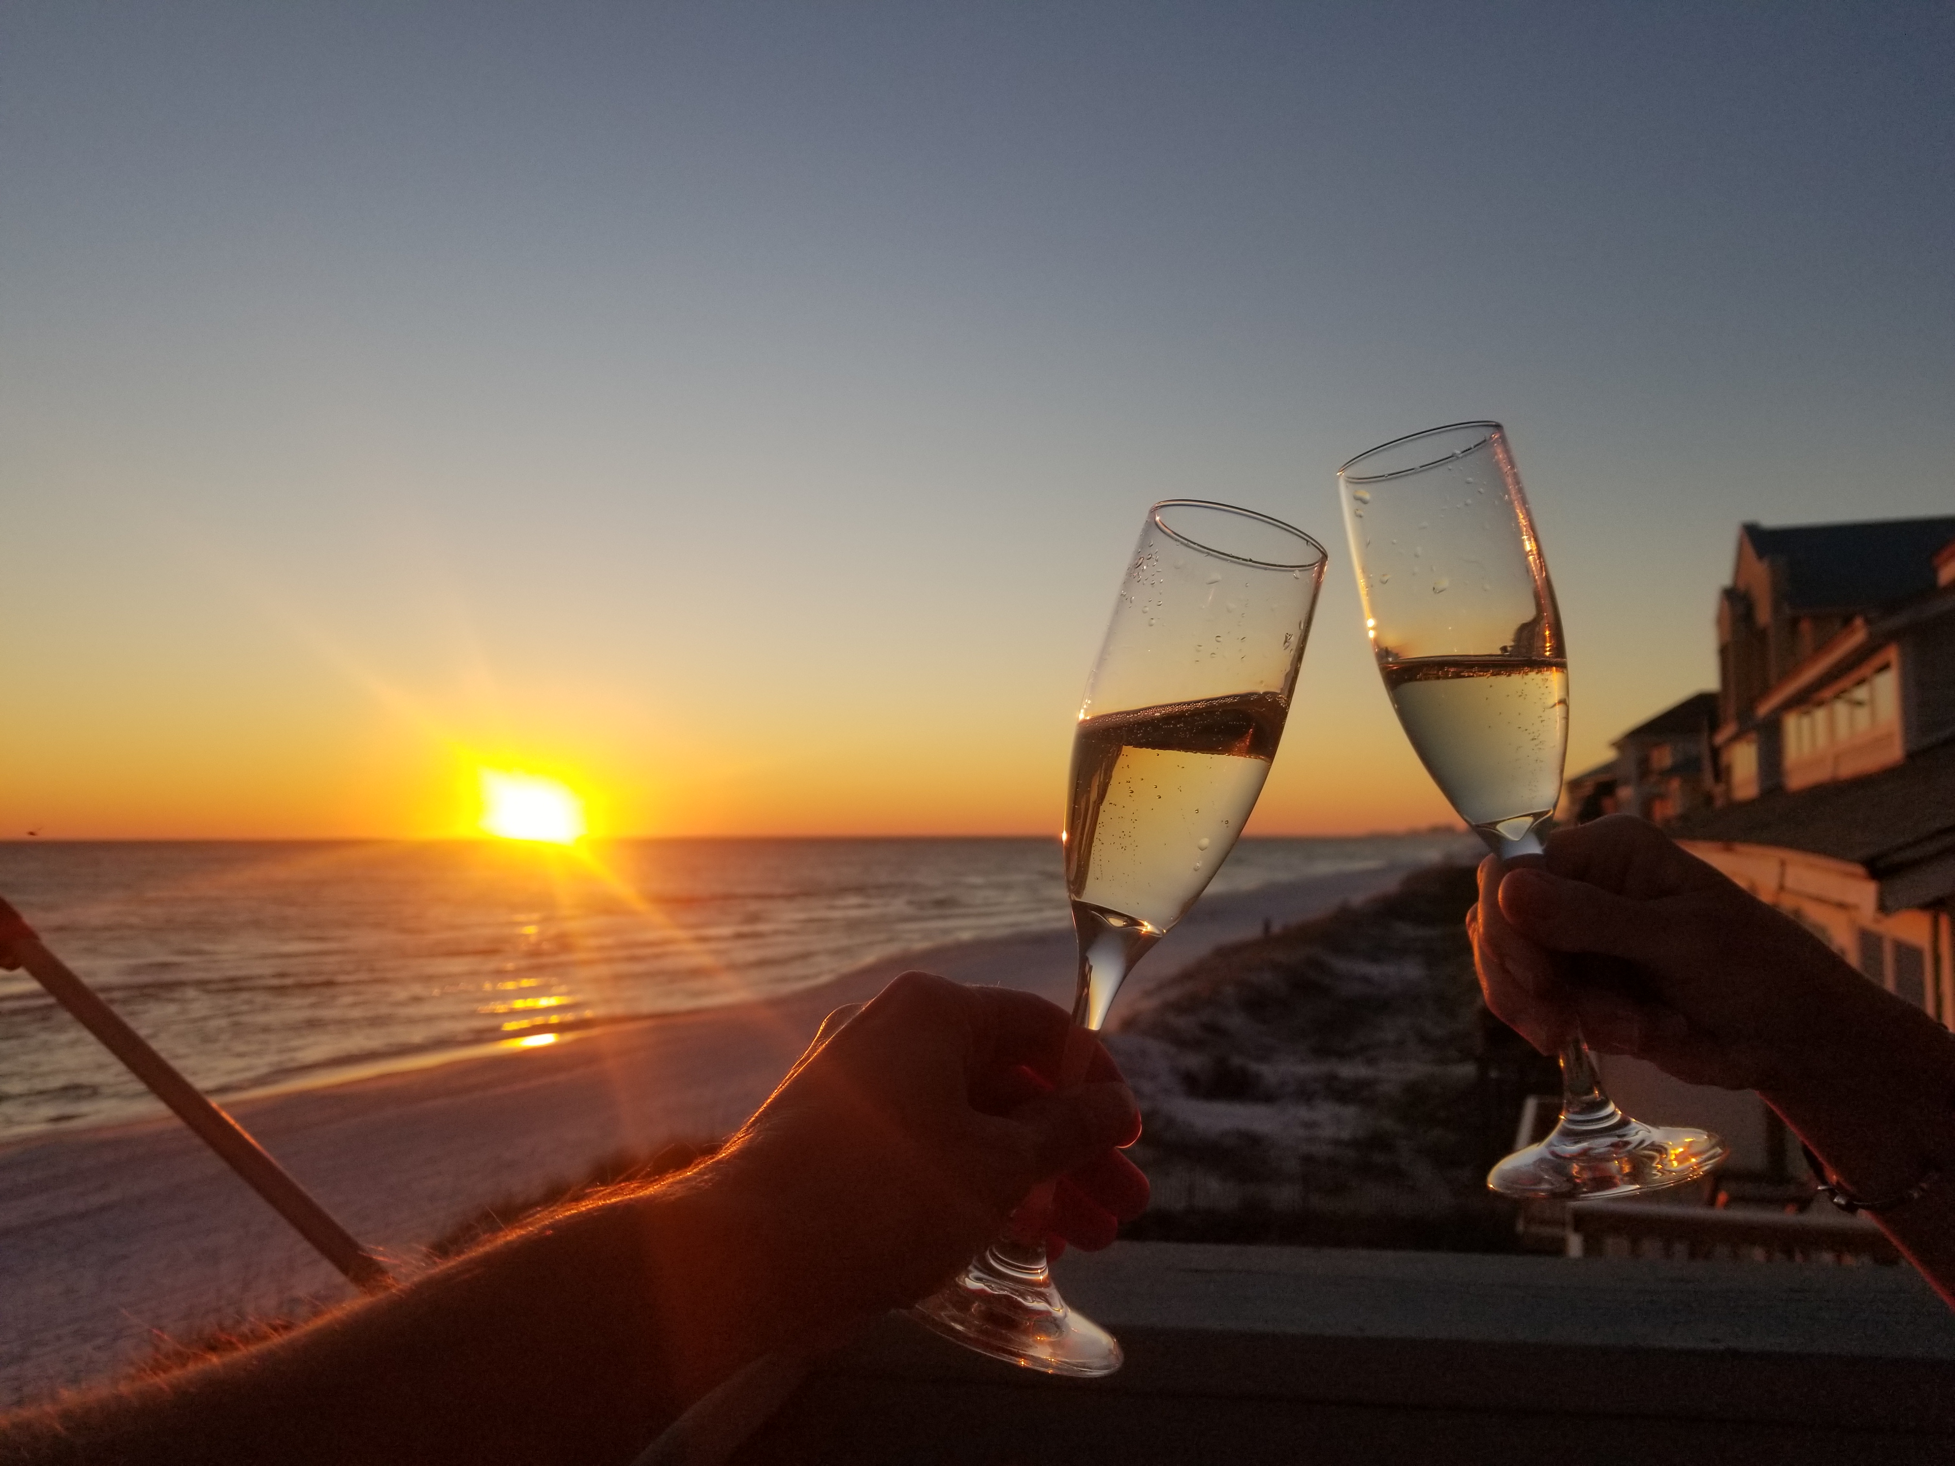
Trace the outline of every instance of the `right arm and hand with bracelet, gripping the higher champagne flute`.
{"type": "Polygon", "coordinates": [[[1629,815],[1556,831],[1537,866],[1486,860],[1466,928],[1488,1007],[1541,1052],[1580,1028],[1756,1089],[1851,1194],[1920,1190],[1869,1214],[1955,1304],[1955,1034],[1629,815]]]}

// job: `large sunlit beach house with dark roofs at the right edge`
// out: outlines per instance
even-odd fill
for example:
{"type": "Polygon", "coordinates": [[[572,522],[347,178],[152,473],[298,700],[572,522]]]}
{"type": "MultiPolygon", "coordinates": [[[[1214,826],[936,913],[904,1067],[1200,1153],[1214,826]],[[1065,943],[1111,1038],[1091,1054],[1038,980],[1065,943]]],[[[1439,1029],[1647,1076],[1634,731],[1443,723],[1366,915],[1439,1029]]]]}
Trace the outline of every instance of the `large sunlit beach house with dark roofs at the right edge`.
{"type": "Polygon", "coordinates": [[[1715,805],[1664,821],[1955,1020],[1955,516],[1738,532],[1715,805]]]}

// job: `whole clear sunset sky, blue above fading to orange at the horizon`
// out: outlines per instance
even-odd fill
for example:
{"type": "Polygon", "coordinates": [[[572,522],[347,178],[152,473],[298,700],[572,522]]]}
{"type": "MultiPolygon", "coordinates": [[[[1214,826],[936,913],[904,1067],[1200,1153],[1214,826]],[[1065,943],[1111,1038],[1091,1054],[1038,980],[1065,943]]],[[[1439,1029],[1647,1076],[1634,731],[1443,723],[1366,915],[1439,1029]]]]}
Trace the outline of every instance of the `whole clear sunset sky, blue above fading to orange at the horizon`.
{"type": "Polygon", "coordinates": [[[0,837],[1056,833],[1146,506],[1331,553],[1251,831],[1449,819],[1337,463],[1507,424],[1570,770],[1955,506],[1945,4],[0,8],[0,837]]]}

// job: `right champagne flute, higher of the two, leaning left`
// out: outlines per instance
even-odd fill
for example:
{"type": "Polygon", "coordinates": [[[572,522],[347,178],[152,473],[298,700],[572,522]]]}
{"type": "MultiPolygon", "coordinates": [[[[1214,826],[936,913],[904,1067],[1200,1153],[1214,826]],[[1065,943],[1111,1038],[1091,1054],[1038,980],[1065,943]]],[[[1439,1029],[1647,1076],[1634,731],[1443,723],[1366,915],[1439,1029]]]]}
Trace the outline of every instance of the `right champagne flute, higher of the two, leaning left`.
{"type": "MultiPolygon", "coordinates": [[[[1365,625],[1398,721],[1460,817],[1511,864],[1539,862],[1568,747],[1568,651],[1507,432],[1455,422],[1337,471],[1365,625]]],[[[1724,1159],[1703,1130],[1630,1120],[1580,1034],[1562,1116],[1488,1173],[1505,1196],[1627,1196],[1724,1159]]]]}

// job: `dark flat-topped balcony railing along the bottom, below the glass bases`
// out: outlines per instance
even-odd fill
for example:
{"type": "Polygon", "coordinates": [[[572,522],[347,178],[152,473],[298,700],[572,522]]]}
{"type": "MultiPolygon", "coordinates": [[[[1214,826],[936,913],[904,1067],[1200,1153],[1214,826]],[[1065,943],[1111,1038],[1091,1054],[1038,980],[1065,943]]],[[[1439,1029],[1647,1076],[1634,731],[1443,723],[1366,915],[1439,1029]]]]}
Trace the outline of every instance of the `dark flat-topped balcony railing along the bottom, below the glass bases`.
{"type": "Polygon", "coordinates": [[[1955,1458],[1955,1315],[1906,1269],[1122,1243],[1060,1276],[1110,1380],[888,1317],[733,1460],[1955,1458]]]}

